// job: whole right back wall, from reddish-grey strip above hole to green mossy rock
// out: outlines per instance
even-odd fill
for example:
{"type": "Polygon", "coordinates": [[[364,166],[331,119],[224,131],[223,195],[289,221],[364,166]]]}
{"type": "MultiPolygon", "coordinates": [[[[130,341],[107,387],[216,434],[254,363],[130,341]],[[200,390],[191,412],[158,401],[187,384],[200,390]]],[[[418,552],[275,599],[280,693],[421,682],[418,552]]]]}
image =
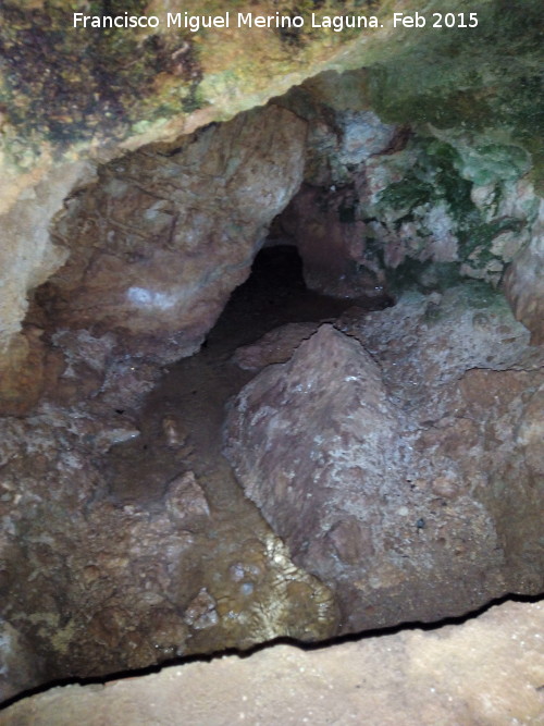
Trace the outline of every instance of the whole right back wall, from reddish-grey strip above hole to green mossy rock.
{"type": "Polygon", "coordinates": [[[307,284],[333,295],[504,284],[540,340],[542,198],[530,155],[496,131],[384,123],[371,79],[369,70],[325,73],[281,99],[309,135],[305,184],[275,237],[297,245],[307,284]]]}

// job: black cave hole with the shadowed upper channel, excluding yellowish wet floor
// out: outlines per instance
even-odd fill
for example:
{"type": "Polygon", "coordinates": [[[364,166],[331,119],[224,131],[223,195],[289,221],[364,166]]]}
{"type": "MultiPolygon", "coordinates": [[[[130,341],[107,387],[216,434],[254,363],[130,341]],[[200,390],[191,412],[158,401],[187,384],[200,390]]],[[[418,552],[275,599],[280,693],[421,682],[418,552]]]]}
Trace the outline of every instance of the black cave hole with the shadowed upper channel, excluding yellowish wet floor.
{"type": "MultiPolygon", "coordinates": [[[[184,470],[206,480],[215,479],[218,468],[227,476],[228,465],[221,455],[224,406],[255,376],[232,361],[236,348],[289,322],[334,321],[355,304],[370,310],[387,302],[312,292],[305,285],[296,247],[264,247],[200,352],[170,366],[149,394],[139,416],[140,435],[118,444],[107,455],[101,468],[113,501],[153,506],[184,470]]],[[[211,496],[219,497],[222,506],[225,499],[220,492],[221,487],[214,487],[211,496]]]]}

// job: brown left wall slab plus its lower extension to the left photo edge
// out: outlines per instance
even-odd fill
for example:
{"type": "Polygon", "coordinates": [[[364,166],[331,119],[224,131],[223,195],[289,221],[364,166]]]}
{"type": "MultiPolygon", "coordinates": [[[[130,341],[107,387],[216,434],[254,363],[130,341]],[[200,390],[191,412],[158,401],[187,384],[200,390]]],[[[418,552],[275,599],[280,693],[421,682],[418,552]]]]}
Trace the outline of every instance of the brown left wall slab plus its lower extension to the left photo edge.
{"type": "MultiPolygon", "coordinates": [[[[71,383],[72,399],[92,395],[128,355],[195,353],[300,185],[306,133],[269,106],[101,165],[69,195],[49,246],[45,205],[23,214],[41,220],[33,234],[45,269],[33,280],[50,276],[0,355],[2,413],[23,415],[51,390],[67,403],[71,383]]],[[[9,295],[28,275],[25,260],[9,295]]]]}

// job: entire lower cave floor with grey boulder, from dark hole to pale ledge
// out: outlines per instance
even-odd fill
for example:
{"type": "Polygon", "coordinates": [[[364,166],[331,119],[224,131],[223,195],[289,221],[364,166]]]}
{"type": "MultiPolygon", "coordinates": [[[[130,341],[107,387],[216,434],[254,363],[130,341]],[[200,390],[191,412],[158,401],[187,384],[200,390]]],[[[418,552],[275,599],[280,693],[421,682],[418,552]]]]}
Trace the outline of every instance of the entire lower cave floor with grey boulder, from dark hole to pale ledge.
{"type": "Polygon", "coordinates": [[[272,247],[169,372],[53,342],[64,374],[1,419],[2,698],[542,591],[543,353],[489,287],[369,312],[272,247]],[[272,528],[221,457],[243,386],[228,451],[272,528]]]}

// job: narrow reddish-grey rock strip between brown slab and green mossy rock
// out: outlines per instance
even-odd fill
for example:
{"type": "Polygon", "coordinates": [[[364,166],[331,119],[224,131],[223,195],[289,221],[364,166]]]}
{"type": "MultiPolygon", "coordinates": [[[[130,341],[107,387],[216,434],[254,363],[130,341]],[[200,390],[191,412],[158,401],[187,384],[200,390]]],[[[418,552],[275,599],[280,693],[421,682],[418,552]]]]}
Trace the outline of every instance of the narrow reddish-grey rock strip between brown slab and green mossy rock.
{"type": "MultiPolygon", "coordinates": [[[[325,73],[280,102],[309,123],[305,184],[276,223],[276,234],[298,247],[310,290],[357,297],[383,290],[383,266],[369,260],[367,229],[357,212],[362,170],[372,157],[403,143],[393,124],[368,108],[364,71],[325,73]],[[359,182],[360,186],[360,182],[359,182]]],[[[404,139],[405,140],[405,139],[404,139]]]]}

